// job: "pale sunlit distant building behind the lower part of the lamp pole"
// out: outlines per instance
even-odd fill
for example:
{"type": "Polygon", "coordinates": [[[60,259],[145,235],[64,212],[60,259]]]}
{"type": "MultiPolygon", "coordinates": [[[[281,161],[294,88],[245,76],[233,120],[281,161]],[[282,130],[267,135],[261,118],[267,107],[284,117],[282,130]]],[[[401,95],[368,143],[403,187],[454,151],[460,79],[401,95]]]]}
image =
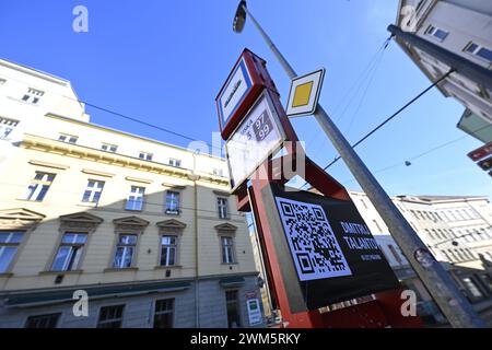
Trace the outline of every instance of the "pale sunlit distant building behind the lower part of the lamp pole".
{"type": "MultiPolygon", "coordinates": [[[[364,192],[350,191],[403,285],[417,291],[427,311],[431,298],[364,192]]],[[[475,304],[492,301],[492,205],[487,197],[397,196],[394,203],[475,304]]],[[[437,315],[437,314],[436,314],[437,315]]],[[[436,316],[440,318],[440,316],[436,316]]]]}

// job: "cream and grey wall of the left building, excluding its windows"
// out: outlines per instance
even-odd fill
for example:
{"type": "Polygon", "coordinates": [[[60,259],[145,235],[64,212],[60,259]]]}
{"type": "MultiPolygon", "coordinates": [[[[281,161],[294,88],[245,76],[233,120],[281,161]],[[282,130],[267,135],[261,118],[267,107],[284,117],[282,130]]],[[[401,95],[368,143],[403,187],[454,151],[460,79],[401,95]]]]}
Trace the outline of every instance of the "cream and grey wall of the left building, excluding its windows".
{"type": "Polygon", "coordinates": [[[0,327],[22,327],[30,315],[58,311],[62,312],[60,327],[93,327],[101,305],[119,302],[127,304],[124,327],[149,327],[153,301],[166,295],[175,298],[176,327],[197,326],[197,313],[200,327],[226,327],[225,292],[231,288],[238,291],[242,324],[248,326],[246,293],[259,294],[258,272],[245,214],[236,210],[230,194],[225,160],[208,153],[204,147],[196,152],[200,144],[189,151],[90,124],[82,105],[56,100],[59,93],[74,96],[69,82],[19,66],[2,70],[1,63],[0,78],[7,82],[0,86],[0,98],[10,101],[10,109],[0,103],[0,116],[25,115],[19,119],[28,128],[17,129],[2,143],[8,156],[0,167],[0,231],[25,233],[8,269],[0,271],[0,327]],[[16,73],[22,74],[21,80],[32,81],[16,86],[11,77],[16,73]],[[26,86],[44,90],[39,105],[12,97],[26,86]],[[42,102],[46,105],[42,106],[42,102]],[[60,133],[77,140],[62,141],[60,133]],[[103,142],[118,148],[115,152],[104,151],[103,142]],[[140,152],[152,153],[152,160],[140,159],[140,152]],[[172,159],[180,164],[171,164],[172,159]],[[54,182],[42,201],[26,200],[36,172],[54,174],[54,182]],[[97,202],[82,201],[89,180],[104,182],[97,202]],[[131,186],[144,187],[141,210],[126,209],[131,186]],[[179,192],[177,214],[165,211],[168,190],[179,192]],[[219,198],[227,201],[225,218],[219,214],[219,198]],[[66,232],[87,233],[87,241],[79,266],[70,271],[52,271],[66,232]],[[113,267],[119,233],[138,235],[130,268],[113,267]],[[163,234],[177,236],[176,262],[171,267],[160,266],[163,234]],[[222,259],[224,235],[233,240],[234,258],[230,262],[222,259]],[[236,281],[224,284],[224,279],[236,281]],[[15,295],[138,287],[153,281],[188,281],[190,287],[171,294],[154,291],[90,300],[91,315],[83,318],[74,318],[71,303],[1,306],[15,295]]]}

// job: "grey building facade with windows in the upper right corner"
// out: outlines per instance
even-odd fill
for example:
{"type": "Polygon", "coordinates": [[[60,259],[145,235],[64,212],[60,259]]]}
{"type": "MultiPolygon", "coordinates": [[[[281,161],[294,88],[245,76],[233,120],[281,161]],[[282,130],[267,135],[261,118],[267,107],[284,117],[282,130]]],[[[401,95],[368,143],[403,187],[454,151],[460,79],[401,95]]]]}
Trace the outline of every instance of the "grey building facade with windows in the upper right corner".
{"type": "MultiPolygon", "coordinates": [[[[400,0],[396,25],[406,32],[465,58],[469,63],[492,68],[492,2],[489,0],[400,0]]],[[[413,62],[436,81],[449,67],[429,52],[397,38],[413,62]]],[[[466,110],[458,128],[478,140],[492,141],[492,91],[460,72],[437,85],[466,110]]]]}

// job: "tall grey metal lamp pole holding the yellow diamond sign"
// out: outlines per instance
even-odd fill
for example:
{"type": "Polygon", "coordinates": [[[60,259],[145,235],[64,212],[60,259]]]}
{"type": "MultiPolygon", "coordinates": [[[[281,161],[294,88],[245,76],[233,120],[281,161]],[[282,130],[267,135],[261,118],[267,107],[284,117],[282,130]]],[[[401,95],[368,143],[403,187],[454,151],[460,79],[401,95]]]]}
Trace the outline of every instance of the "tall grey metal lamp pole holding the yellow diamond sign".
{"type": "MultiPolygon", "coordinates": [[[[247,15],[251,18],[253,23],[279,59],[280,65],[282,65],[288,75],[291,79],[295,78],[297,74],[294,69],[289,65],[282,54],[280,54],[279,49],[247,10],[246,5],[243,5],[243,8],[247,15]]],[[[485,327],[485,323],[473,311],[452,277],[431,255],[425,244],[396,208],[389,196],[320,105],[317,107],[315,117],[345,162],[352,175],[377,209],[377,212],[388,226],[391,236],[400,246],[410,265],[449,320],[449,324],[453,327],[485,327]]]]}

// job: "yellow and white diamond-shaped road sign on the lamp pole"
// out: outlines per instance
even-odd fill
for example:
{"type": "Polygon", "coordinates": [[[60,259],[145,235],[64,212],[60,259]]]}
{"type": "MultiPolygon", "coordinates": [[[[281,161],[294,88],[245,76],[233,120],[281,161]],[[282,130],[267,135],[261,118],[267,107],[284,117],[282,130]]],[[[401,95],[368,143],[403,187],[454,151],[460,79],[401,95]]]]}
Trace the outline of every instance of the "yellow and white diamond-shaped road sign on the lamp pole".
{"type": "Polygon", "coordinates": [[[292,80],[285,110],[288,116],[306,116],[316,112],[324,78],[325,69],[321,68],[292,80]]]}

